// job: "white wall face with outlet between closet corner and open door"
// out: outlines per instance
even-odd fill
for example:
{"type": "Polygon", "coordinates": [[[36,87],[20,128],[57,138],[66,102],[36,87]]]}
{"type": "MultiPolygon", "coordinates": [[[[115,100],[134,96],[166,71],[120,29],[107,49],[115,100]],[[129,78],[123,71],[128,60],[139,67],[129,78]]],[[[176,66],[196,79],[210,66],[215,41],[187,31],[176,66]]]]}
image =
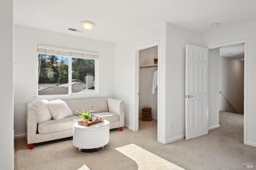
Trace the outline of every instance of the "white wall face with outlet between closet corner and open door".
{"type": "Polygon", "coordinates": [[[200,34],[166,24],[166,143],[184,138],[185,135],[186,44],[205,46],[200,34]]]}

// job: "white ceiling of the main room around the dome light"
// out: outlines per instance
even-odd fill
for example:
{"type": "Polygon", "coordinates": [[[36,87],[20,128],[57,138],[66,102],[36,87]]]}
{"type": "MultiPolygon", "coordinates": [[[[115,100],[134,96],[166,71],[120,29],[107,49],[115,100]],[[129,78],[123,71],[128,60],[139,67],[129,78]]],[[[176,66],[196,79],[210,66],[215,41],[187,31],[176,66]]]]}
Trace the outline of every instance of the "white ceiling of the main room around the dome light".
{"type": "Polygon", "coordinates": [[[165,22],[211,32],[256,20],[255,8],[256,0],[14,0],[14,24],[116,43],[165,22]],[[83,30],[82,20],[96,25],[83,30]]]}

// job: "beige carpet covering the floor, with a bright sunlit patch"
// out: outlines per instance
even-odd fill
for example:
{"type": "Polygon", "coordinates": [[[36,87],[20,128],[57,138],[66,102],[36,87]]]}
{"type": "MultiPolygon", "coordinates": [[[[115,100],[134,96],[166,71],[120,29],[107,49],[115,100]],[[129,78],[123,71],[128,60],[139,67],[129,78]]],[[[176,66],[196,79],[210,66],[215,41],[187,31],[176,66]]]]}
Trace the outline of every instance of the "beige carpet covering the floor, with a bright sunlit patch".
{"type": "MultiPolygon", "coordinates": [[[[79,152],[72,138],[34,144],[32,150],[28,149],[26,138],[15,139],[14,144],[16,170],[138,170],[141,162],[118,151],[133,144],[166,164],[187,170],[256,169],[256,148],[243,144],[243,115],[235,113],[220,112],[220,128],[210,130],[208,135],[170,144],[157,142],[155,120],[140,120],[137,132],[127,128],[122,132],[110,130],[110,142],[94,153],[79,152]],[[246,168],[245,163],[253,164],[253,168],[246,168]]],[[[135,151],[135,155],[139,153],[135,151]]],[[[147,159],[144,155],[140,155],[141,161],[147,159]]],[[[158,169],[155,162],[145,164],[143,169],[158,169]]],[[[160,167],[162,163],[159,164],[160,167]]]]}

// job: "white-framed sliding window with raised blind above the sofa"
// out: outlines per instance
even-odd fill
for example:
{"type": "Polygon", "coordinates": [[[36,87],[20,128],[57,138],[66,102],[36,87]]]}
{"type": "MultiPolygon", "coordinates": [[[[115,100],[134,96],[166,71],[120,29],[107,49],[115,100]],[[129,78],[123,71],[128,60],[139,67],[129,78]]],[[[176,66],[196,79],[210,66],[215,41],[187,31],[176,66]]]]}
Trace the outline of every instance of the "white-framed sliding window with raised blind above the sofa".
{"type": "Polygon", "coordinates": [[[38,45],[38,96],[97,94],[98,53],[38,45]]]}

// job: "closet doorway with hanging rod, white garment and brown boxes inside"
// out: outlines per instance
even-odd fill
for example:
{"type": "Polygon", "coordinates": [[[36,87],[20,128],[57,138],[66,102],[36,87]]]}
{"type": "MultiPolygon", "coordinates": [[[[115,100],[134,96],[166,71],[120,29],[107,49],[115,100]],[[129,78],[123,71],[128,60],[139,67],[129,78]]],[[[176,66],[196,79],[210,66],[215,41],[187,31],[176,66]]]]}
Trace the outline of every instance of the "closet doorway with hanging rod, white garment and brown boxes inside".
{"type": "MultiPolygon", "coordinates": [[[[139,130],[139,122],[142,122],[142,108],[151,108],[151,119],[158,119],[158,44],[154,42],[136,48],[136,131],[139,130]]],[[[148,119],[144,116],[144,120],[148,119]]]]}

